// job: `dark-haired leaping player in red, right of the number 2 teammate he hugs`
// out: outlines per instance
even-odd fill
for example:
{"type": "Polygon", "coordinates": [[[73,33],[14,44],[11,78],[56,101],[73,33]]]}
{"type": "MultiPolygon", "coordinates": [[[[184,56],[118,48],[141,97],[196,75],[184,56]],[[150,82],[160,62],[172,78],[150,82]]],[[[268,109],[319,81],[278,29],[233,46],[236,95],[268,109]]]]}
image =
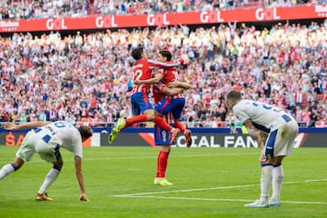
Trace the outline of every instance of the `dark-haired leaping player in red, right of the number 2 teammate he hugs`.
{"type": "MultiPolygon", "coordinates": [[[[158,60],[162,62],[170,62],[172,56],[173,55],[169,51],[162,50],[159,52],[158,60]]],[[[183,88],[183,82],[178,81],[178,73],[174,67],[167,69],[162,68],[153,78],[148,80],[135,80],[134,84],[158,84],[160,82],[167,84],[169,87],[183,88]]],[[[185,97],[183,96],[183,93],[173,96],[166,95],[158,104],[155,105],[154,116],[163,116],[163,114],[173,112],[174,126],[179,128],[185,135],[186,145],[187,147],[190,147],[192,145],[192,133],[190,130],[186,129],[181,122],[179,122],[184,105],[185,97]]]]}

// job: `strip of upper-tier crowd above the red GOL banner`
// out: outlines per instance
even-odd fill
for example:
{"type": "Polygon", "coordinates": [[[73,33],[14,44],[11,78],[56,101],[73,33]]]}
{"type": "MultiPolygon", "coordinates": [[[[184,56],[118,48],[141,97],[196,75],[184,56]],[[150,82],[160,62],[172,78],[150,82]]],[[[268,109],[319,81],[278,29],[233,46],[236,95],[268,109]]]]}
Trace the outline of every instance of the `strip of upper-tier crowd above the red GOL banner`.
{"type": "Polygon", "coordinates": [[[239,7],[326,3],[327,0],[4,0],[0,5],[0,20],[80,17],[86,15],[143,15],[239,7]]]}

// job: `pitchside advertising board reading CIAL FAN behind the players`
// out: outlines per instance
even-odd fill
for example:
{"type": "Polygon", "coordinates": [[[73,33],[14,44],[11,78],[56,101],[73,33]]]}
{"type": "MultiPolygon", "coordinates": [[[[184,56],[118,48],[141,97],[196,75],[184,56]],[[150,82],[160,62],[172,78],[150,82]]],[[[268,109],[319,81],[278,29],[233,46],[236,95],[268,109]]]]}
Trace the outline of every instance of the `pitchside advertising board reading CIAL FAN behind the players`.
{"type": "MultiPolygon", "coordinates": [[[[327,128],[321,133],[297,134],[293,147],[326,147],[327,128]]],[[[26,132],[0,132],[0,145],[19,146],[23,143],[26,132]]],[[[108,133],[94,133],[91,139],[84,142],[84,146],[153,146],[154,134],[150,132],[121,133],[113,144],[108,143],[108,133]]],[[[226,134],[214,132],[197,132],[192,134],[193,144],[191,147],[258,147],[249,134],[226,134]]],[[[183,134],[177,136],[173,146],[186,147],[183,134]]]]}

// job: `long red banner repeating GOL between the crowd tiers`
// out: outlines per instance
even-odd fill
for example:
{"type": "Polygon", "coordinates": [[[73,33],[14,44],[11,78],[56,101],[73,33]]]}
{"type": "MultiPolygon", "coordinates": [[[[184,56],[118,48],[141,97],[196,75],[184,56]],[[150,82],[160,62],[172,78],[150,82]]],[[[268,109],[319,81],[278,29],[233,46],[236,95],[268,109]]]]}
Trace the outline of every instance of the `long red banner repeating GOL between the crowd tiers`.
{"type": "Polygon", "coordinates": [[[327,17],[327,5],[263,7],[153,15],[106,15],[80,18],[2,20],[0,33],[106,29],[138,26],[204,25],[227,22],[262,22],[278,20],[319,19],[327,17]]]}

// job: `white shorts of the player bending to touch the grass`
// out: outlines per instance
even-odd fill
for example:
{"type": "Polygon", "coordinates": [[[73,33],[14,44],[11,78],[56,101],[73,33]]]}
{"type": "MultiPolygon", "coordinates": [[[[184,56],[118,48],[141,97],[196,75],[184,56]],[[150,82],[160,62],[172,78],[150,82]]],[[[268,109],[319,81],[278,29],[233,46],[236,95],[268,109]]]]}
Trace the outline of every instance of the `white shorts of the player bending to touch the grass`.
{"type": "Polygon", "coordinates": [[[58,161],[60,156],[59,146],[57,144],[51,142],[45,143],[42,138],[35,134],[34,130],[31,130],[25,135],[24,141],[16,153],[16,157],[28,162],[35,153],[39,154],[46,162],[51,163],[58,161]]]}

